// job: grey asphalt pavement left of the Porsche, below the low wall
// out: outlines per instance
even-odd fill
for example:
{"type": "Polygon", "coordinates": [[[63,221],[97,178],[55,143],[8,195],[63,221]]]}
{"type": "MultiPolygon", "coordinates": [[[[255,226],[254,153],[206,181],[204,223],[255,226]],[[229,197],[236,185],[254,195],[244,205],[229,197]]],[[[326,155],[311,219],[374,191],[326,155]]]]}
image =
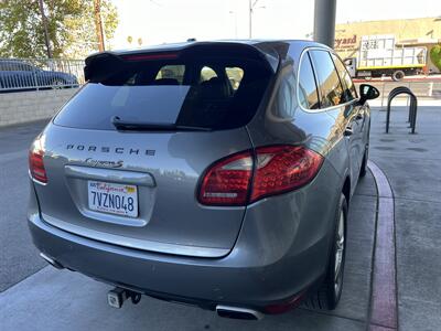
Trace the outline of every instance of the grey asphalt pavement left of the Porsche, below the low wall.
{"type": "Polygon", "coordinates": [[[28,149],[44,125],[0,128],[0,291],[46,266],[32,245],[26,223],[28,149]]]}

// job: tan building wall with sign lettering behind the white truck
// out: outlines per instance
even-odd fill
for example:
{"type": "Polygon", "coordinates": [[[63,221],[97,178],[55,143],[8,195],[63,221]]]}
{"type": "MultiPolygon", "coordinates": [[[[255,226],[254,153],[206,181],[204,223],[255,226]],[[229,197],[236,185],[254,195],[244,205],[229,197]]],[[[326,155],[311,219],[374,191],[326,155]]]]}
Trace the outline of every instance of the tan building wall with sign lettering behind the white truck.
{"type": "MultiPolygon", "coordinates": [[[[394,34],[397,44],[426,46],[428,54],[441,44],[441,18],[352,22],[335,25],[335,50],[344,57],[357,56],[363,35],[394,34]]],[[[439,72],[428,56],[428,68],[439,72]]]]}

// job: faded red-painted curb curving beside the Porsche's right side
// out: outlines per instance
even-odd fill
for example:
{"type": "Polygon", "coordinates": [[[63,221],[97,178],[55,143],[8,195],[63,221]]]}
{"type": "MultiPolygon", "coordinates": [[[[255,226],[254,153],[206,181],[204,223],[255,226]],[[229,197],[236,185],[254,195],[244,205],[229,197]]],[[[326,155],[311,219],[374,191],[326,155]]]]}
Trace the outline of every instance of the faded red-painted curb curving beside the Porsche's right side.
{"type": "Polygon", "coordinates": [[[373,257],[369,330],[398,328],[394,194],[377,164],[368,161],[377,192],[376,239],[373,257]]]}

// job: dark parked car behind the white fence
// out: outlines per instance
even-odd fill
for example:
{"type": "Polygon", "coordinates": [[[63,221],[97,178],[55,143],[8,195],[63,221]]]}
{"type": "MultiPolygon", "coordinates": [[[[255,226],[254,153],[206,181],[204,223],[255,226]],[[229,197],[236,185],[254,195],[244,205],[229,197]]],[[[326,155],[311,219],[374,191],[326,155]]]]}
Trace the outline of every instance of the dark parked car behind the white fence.
{"type": "Polygon", "coordinates": [[[0,60],[0,90],[74,86],[78,86],[75,75],[56,71],[43,71],[19,60],[0,60]]]}

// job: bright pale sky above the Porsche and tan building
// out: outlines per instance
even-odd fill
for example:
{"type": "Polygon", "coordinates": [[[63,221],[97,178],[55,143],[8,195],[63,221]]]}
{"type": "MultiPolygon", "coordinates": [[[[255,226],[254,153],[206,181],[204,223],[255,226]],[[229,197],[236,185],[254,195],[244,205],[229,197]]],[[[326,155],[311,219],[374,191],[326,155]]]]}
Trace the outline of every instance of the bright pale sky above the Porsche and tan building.
{"type": "MultiPolygon", "coordinates": [[[[252,0],[255,1],[255,0],[252,0]]],[[[246,39],[248,0],[111,0],[119,25],[112,49],[197,40],[246,39]],[[127,39],[132,36],[130,44],[127,39]]],[[[310,39],[314,0],[258,0],[252,38],[310,39]]],[[[441,0],[337,0],[336,22],[441,18],[441,0]]]]}

